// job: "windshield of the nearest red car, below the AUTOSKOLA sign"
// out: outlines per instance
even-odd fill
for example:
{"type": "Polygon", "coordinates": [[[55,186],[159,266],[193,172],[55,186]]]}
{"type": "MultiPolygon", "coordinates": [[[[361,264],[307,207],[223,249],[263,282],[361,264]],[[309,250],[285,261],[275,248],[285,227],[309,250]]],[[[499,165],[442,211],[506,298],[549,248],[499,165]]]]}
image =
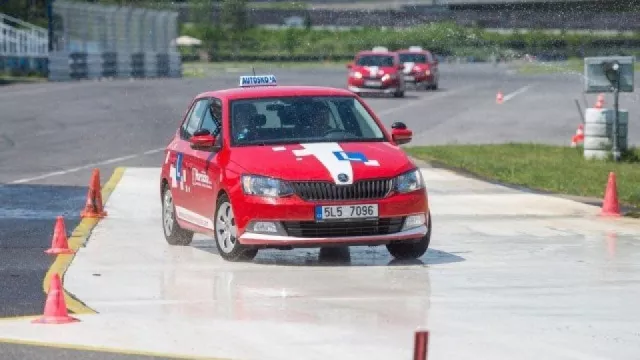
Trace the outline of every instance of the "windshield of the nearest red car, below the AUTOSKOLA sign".
{"type": "Polygon", "coordinates": [[[231,102],[231,144],[386,141],[359,100],[296,96],[231,102]]]}

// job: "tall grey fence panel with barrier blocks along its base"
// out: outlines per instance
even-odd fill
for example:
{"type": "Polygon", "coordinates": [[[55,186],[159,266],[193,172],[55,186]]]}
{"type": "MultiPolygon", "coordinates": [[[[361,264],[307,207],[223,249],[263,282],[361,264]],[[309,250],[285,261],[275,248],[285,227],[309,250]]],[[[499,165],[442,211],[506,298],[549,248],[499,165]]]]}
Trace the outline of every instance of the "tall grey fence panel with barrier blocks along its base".
{"type": "Polygon", "coordinates": [[[181,77],[178,13],[53,2],[49,80],[181,77]]]}

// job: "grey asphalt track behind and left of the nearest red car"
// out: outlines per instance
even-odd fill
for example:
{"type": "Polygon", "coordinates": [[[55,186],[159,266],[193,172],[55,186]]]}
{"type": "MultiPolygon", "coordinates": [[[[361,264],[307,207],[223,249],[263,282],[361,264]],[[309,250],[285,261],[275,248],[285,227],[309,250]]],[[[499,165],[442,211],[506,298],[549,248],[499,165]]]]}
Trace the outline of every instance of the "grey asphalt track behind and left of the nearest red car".
{"type": "MultiPolygon", "coordinates": [[[[256,69],[267,71],[281,84],[344,87],[345,82],[343,69],[256,69]]],[[[159,166],[160,149],[189,100],[201,91],[236,86],[238,75],[0,88],[0,317],[41,313],[42,279],[52,261],[44,250],[55,217],[66,217],[68,232],[77,225],[91,170],[99,167],[104,183],[117,166],[159,166]]],[[[414,144],[566,144],[579,121],[574,99],[582,103],[581,89],[579,75],[523,76],[491,65],[443,65],[439,91],[365,100],[386,125],[407,123],[414,144]],[[506,97],[500,106],[498,90],[506,97]]],[[[594,97],[588,100],[593,103],[594,97]]],[[[635,96],[623,96],[621,106],[640,113],[635,96]]],[[[639,140],[632,115],[630,142],[639,140]]],[[[8,359],[130,358],[76,353],[0,344],[8,359]]]]}

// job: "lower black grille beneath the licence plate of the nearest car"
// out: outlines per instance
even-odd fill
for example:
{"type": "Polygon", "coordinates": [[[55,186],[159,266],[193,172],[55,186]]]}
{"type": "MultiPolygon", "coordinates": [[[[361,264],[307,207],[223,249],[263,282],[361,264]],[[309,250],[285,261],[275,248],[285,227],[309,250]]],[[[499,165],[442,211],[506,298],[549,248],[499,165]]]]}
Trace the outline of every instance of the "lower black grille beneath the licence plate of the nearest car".
{"type": "Polygon", "coordinates": [[[289,236],[330,238],[393,234],[402,229],[403,221],[403,217],[393,217],[356,221],[285,221],[283,224],[289,236]]]}

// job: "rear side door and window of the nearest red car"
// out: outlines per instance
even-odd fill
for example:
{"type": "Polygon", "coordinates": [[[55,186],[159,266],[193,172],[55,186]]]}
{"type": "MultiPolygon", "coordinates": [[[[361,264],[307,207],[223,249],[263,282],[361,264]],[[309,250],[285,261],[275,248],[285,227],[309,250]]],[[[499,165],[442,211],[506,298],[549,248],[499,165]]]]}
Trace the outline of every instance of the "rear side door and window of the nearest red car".
{"type": "Polygon", "coordinates": [[[183,221],[198,224],[197,213],[194,212],[196,203],[192,193],[191,177],[193,167],[193,151],[189,139],[196,132],[205,110],[209,105],[209,99],[198,99],[193,102],[186,116],[178,137],[170,146],[168,162],[170,165],[170,182],[173,201],[176,207],[176,216],[183,221]],[[195,215],[195,216],[194,216],[195,215]]]}

